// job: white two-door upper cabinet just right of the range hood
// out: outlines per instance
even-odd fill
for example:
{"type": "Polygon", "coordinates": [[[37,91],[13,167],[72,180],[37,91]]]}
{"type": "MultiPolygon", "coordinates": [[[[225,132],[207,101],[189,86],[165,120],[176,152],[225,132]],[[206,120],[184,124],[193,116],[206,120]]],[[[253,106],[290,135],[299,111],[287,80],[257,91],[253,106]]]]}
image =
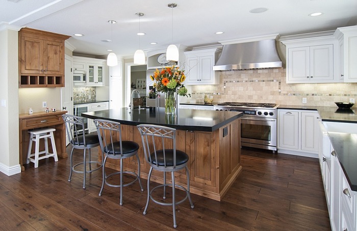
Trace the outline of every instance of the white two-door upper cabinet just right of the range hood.
{"type": "Polygon", "coordinates": [[[339,45],[334,36],[282,42],[286,45],[288,84],[339,81],[339,45]]]}

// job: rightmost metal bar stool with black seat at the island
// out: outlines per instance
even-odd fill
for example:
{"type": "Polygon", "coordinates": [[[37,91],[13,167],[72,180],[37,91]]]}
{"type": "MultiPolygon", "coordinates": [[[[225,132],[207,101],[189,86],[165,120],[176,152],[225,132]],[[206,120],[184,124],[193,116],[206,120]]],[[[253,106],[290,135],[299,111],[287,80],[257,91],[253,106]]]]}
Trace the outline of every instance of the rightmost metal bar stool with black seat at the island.
{"type": "Polygon", "coordinates": [[[151,124],[137,125],[137,127],[141,134],[145,159],[150,164],[149,175],[147,177],[147,201],[143,214],[146,214],[147,207],[149,205],[149,199],[151,199],[155,203],[161,204],[162,206],[172,206],[173,227],[176,228],[176,205],[184,202],[188,197],[191,204],[191,208],[194,208],[190,195],[190,173],[187,167],[189,157],[187,153],[180,150],[176,150],[175,129],[171,129],[171,127],[151,124]],[[170,143],[172,143],[172,149],[165,147],[165,144],[169,146],[170,143]],[[174,172],[184,168],[186,169],[187,189],[185,189],[181,185],[175,185],[174,172]],[[164,172],[164,184],[156,186],[150,191],[150,177],[152,169],[164,172]],[[172,185],[166,184],[166,172],[171,172],[172,185]],[[152,197],[152,192],[154,192],[154,190],[159,187],[163,187],[163,198],[166,199],[166,186],[172,187],[172,203],[163,203],[152,197]],[[175,187],[179,187],[186,192],[186,197],[177,202],[175,201],[175,187]]]}

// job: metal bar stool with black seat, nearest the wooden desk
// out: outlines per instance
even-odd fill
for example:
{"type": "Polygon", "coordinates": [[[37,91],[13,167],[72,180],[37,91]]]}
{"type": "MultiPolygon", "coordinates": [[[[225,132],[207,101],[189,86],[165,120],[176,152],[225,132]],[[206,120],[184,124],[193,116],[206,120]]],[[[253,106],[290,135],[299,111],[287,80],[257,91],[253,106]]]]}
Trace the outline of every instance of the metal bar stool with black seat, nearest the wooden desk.
{"type": "Polygon", "coordinates": [[[102,165],[98,161],[91,161],[90,149],[92,147],[99,146],[99,139],[97,135],[94,134],[85,134],[85,126],[84,126],[84,118],[80,116],[73,115],[62,115],[64,123],[66,124],[67,136],[69,143],[72,145],[72,151],[70,154],[70,173],[68,182],[71,181],[72,172],[83,173],[83,189],[86,188],[86,173],[91,173],[95,170],[98,170],[102,165]],[[83,149],[83,162],[75,164],[73,166],[73,150],[83,149]],[[89,161],[86,160],[86,150],[89,150],[89,161]],[[92,164],[95,163],[99,165],[95,169],[92,170],[92,164]],[[83,165],[83,170],[78,169],[77,167],[83,165]],[[87,170],[87,165],[89,170],[87,170]]]}

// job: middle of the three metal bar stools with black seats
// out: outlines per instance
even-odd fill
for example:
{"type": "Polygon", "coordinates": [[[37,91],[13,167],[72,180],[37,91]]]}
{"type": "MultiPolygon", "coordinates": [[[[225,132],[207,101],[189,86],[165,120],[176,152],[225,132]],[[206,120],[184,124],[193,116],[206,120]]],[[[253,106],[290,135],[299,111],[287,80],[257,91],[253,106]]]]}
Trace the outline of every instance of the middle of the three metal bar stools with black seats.
{"type": "Polygon", "coordinates": [[[140,181],[140,160],[138,156],[139,145],[134,141],[121,140],[121,126],[118,122],[113,122],[109,120],[95,119],[94,124],[97,128],[97,134],[99,137],[100,148],[102,152],[103,160],[103,182],[101,183],[101,189],[99,196],[104,189],[104,184],[111,187],[120,188],[120,206],[123,205],[123,187],[134,184],[139,181],[141,191],[144,191],[141,181],[140,181]],[[118,137],[119,136],[119,137],[118,137]],[[105,157],[104,157],[105,155],[105,157]],[[138,174],[132,171],[123,171],[123,159],[136,156],[138,160],[138,174]],[[109,175],[106,174],[105,166],[107,159],[119,159],[120,160],[120,171],[114,172],[109,175]],[[135,179],[129,183],[123,184],[124,173],[134,175],[135,179]],[[108,178],[120,174],[120,185],[112,185],[108,183],[108,178]]]}

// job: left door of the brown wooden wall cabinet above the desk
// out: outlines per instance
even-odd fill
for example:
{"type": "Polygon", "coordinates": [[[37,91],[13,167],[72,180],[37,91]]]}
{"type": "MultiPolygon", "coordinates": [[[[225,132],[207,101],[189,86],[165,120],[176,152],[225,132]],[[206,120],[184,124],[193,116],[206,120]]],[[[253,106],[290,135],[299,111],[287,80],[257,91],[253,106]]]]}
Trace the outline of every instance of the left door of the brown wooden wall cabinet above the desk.
{"type": "Polygon", "coordinates": [[[41,73],[42,40],[21,37],[21,73],[41,73]]]}

